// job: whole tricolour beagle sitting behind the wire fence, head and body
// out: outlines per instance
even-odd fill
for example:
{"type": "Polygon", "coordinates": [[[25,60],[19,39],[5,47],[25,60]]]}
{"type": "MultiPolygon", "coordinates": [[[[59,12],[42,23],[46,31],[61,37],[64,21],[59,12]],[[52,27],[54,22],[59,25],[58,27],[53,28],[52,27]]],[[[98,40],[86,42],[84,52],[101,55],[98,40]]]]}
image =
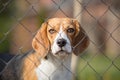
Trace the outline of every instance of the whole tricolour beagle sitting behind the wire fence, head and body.
{"type": "Polygon", "coordinates": [[[52,18],[33,38],[34,51],[17,55],[2,72],[3,80],[72,80],[71,55],[79,55],[89,38],[76,19],[52,18]]]}

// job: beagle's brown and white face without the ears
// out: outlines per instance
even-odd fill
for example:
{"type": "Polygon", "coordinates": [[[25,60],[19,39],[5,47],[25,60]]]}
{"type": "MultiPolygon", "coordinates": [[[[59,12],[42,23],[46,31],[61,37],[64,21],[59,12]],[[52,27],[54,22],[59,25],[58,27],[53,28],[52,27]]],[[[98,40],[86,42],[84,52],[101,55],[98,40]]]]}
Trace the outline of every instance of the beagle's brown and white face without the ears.
{"type": "Polygon", "coordinates": [[[73,21],[67,18],[55,18],[48,21],[47,35],[53,55],[64,56],[72,53],[72,42],[79,31],[73,21]]]}

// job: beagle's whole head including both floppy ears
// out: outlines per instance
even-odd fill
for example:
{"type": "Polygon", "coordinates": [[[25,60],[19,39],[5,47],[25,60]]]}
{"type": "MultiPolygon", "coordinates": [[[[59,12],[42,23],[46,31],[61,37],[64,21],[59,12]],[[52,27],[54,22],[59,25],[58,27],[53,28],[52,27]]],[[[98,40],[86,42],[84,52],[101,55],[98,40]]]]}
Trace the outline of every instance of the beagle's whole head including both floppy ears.
{"type": "Polygon", "coordinates": [[[55,56],[65,56],[72,52],[78,55],[88,43],[88,37],[77,20],[53,18],[42,24],[32,45],[41,55],[51,51],[55,56]]]}

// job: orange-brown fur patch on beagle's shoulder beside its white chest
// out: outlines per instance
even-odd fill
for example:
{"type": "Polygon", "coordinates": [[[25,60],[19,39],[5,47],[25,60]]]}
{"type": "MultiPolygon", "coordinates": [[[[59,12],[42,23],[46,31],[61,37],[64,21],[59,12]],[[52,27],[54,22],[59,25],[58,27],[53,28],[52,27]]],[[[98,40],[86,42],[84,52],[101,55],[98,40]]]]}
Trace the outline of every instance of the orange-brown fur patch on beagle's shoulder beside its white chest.
{"type": "Polygon", "coordinates": [[[23,80],[37,80],[37,76],[34,71],[40,64],[40,59],[38,59],[37,56],[39,56],[37,53],[33,53],[24,59],[24,68],[22,73],[23,80]]]}

